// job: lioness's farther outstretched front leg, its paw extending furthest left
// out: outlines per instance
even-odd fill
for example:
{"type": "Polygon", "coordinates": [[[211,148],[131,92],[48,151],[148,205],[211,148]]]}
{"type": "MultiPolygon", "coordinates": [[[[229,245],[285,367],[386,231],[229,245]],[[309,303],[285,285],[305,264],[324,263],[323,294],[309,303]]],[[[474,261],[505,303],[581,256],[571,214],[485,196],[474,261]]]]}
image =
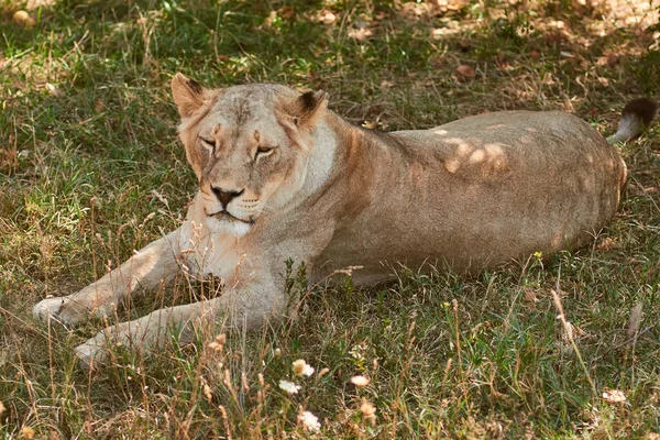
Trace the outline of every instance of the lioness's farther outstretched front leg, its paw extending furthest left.
{"type": "Polygon", "coordinates": [[[36,319],[53,319],[75,326],[89,318],[112,315],[114,308],[138,287],[152,289],[174,279],[183,229],[143,248],[120,267],[82,290],[59,298],[47,298],[32,309],[36,319]]]}

